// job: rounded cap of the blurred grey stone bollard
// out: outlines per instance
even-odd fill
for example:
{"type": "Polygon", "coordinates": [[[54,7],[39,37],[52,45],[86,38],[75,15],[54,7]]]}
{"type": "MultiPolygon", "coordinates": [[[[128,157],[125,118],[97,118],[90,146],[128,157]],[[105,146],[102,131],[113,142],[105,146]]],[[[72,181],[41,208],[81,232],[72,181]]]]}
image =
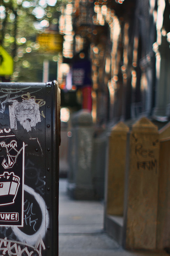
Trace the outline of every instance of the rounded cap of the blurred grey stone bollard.
{"type": "Polygon", "coordinates": [[[91,112],[87,109],[81,109],[75,112],[71,118],[72,126],[91,126],[92,115],[91,112]]]}

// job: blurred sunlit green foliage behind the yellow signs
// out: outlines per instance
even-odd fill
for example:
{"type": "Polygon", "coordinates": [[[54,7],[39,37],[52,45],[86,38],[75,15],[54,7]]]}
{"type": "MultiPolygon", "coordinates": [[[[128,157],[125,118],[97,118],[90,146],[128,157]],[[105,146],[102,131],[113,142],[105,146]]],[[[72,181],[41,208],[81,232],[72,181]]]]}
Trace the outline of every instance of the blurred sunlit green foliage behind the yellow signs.
{"type": "Polygon", "coordinates": [[[52,1],[0,0],[0,43],[14,60],[11,81],[41,82],[43,60],[56,60],[58,52],[43,53],[36,41],[38,33],[58,30],[60,9],[67,1],[52,1]]]}

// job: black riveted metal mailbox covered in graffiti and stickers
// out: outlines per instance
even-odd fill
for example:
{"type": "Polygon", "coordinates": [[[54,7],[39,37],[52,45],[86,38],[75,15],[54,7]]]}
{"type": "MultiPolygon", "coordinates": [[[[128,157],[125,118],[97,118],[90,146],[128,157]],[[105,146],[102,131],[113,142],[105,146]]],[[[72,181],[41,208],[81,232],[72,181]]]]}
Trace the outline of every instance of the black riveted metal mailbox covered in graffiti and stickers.
{"type": "Polygon", "coordinates": [[[60,90],[0,83],[0,254],[58,255],[60,90]]]}

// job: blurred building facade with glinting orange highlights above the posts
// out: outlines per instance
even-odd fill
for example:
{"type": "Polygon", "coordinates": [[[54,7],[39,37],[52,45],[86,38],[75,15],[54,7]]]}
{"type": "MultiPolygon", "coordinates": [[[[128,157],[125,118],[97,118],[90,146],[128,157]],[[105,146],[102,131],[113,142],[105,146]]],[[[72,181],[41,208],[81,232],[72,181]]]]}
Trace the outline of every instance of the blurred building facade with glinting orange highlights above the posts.
{"type": "MultiPolygon", "coordinates": [[[[85,76],[92,78],[72,79],[72,85],[92,95],[95,123],[114,124],[142,115],[167,121],[168,32],[168,1],[78,0],[66,5],[60,18],[63,61],[70,64],[73,78],[80,62],[85,76]]],[[[83,104],[90,101],[82,97],[83,104]]]]}

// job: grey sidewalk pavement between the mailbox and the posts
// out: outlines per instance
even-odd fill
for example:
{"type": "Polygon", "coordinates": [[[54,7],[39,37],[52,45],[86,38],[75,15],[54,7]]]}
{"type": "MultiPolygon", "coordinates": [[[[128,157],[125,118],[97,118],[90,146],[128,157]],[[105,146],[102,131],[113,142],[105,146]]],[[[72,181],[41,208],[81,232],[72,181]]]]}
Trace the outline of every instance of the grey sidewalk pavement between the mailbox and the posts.
{"type": "Polygon", "coordinates": [[[169,256],[161,252],[129,252],[103,230],[104,206],[72,200],[67,180],[59,180],[59,256],[169,256]]]}

